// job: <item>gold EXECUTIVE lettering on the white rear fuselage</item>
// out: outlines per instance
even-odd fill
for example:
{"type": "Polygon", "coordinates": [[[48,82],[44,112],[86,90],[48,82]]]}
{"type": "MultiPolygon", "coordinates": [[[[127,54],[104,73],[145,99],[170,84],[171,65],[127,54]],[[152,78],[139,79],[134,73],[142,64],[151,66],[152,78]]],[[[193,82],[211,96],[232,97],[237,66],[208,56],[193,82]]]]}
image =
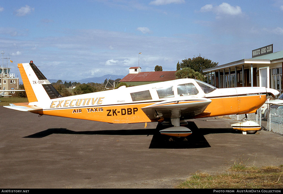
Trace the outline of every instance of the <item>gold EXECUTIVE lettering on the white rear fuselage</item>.
{"type": "Polygon", "coordinates": [[[50,108],[74,107],[74,106],[102,104],[103,99],[104,99],[104,97],[82,98],[82,99],[73,99],[73,100],[55,100],[55,101],[51,102],[50,108]]]}

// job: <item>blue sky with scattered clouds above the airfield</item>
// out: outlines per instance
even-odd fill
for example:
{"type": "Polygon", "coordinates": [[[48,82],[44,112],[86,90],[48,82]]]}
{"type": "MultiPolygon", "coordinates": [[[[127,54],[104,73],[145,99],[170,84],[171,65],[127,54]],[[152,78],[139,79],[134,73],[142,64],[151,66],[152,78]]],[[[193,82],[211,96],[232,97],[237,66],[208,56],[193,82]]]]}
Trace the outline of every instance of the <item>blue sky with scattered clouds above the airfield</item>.
{"type": "Polygon", "coordinates": [[[48,79],[80,80],[139,64],[175,71],[198,55],[221,65],[269,44],[283,50],[282,0],[9,0],[0,16],[0,50],[19,77],[17,63],[30,60],[48,79]]]}

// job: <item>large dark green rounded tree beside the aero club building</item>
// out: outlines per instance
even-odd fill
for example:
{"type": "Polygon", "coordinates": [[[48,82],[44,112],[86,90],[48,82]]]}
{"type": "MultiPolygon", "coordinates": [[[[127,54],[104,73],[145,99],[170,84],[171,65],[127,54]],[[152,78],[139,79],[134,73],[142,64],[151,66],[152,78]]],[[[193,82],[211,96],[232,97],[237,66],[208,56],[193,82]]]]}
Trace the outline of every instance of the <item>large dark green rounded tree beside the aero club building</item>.
{"type": "Polygon", "coordinates": [[[207,68],[215,67],[217,65],[218,65],[218,62],[213,62],[210,59],[205,59],[204,57],[201,57],[199,55],[197,57],[193,57],[192,59],[191,58],[184,59],[182,60],[181,63],[179,63],[178,61],[177,70],[188,67],[196,72],[200,72],[201,74],[203,74],[202,72],[203,70],[207,68]]]}

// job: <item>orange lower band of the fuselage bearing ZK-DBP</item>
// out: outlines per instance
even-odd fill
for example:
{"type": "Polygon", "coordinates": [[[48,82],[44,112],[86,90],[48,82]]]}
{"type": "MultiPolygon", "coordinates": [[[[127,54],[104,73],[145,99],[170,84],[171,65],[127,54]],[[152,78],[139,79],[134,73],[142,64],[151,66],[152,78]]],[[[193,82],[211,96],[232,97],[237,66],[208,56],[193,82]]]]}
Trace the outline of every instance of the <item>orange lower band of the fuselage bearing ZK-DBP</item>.
{"type": "MultiPolygon", "coordinates": [[[[261,107],[266,100],[265,95],[255,96],[237,96],[233,97],[215,97],[209,98],[212,102],[207,106],[205,112],[207,114],[196,116],[201,117],[216,117],[220,115],[245,114],[250,113],[261,107]],[[261,96],[261,97],[260,97],[261,96]],[[252,100],[251,100],[252,99],[252,100]],[[238,102],[239,101],[239,102],[238,102]],[[240,110],[240,112],[239,112],[240,110]]],[[[150,120],[141,108],[153,105],[156,102],[140,103],[140,104],[123,104],[123,105],[100,105],[92,107],[68,107],[60,109],[48,109],[43,111],[32,111],[41,115],[52,115],[59,117],[79,118],[85,120],[109,122],[109,123],[140,123],[140,122],[155,122],[150,120]]],[[[182,102],[186,103],[186,102],[182,102]]],[[[162,118],[161,118],[162,119],[162,118]]],[[[189,119],[189,118],[185,118],[189,119]]]]}

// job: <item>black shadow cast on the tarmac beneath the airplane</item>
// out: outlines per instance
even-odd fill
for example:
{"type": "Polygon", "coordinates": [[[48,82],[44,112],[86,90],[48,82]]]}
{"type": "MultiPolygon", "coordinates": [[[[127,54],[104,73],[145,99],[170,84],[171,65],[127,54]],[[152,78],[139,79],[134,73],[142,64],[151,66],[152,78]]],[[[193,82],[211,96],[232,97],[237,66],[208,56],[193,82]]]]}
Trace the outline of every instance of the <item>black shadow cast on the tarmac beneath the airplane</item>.
{"type": "MultiPolygon", "coordinates": [[[[156,129],[133,129],[133,130],[99,130],[99,131],[72,131],[66,128],[51,128],[23,138],[43,138],[51,134],[77,134],[77,135],[153,135],[150,149],[189,149],[211,147],[204,135],[216,133],[241,133],[231,128],[211,129],[198,128],[193,121],[188,122],[192,134],[187,137],[170,137],[161,135],[159,130],[162,126],[157,125],[156,129]]],[[[163,129],[163,128],[162,128],[163,129]]]]}

